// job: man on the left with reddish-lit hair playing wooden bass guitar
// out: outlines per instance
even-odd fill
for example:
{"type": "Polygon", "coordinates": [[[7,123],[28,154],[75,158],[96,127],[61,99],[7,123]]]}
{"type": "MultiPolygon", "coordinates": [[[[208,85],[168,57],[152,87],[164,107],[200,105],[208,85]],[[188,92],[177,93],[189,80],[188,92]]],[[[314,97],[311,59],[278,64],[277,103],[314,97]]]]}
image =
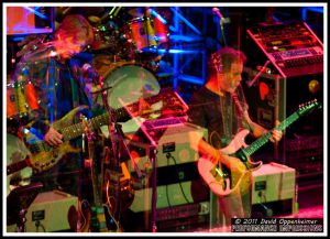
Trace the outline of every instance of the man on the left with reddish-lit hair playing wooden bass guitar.
{"type": "MultiPolygon", "coordinates": [[[[72,14],[64,18],[50,39],[26,52],[14,73],[15,79],[33,84],[38,102],[38,108],[29,112],[30,123],[24,126],[24,133],[34,135],[26,137],[25,141],[33,145],[29,150],[36,155],[34,160],[41,166],[32,180],[43,182],[44,191],[59,189],[80,197],[82,140],[81,137],[67,140],[74,138],[70,135],[78,129],[70,132],[62,129],[73,124],[75,115],[82,109],[91,115],[81,65],[91,61],[91,53],[86,50],[94,42],[94,32],[82,15],[72,14]],[[43,142],[44,146],[54,150],[40,151],[38,145],[43,142]],[[46,160],[59,157],[63,160],[56,166],[42,172],[43,166],[47,169],[46,160]]],[[[88,117],[92,117],[90,115],[88,117]]]]}

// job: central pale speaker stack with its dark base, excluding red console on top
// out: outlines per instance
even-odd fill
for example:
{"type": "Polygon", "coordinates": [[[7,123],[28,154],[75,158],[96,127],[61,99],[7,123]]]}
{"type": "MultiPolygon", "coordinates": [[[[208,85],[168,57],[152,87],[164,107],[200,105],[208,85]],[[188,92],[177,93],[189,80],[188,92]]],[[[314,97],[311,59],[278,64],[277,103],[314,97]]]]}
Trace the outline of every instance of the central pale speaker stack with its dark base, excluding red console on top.
{"type": "MultiPolygon", "coordinates": [[[[157,145],[131,141],[132,160],[128,170],[134,182],[134,199],[130,206],[132,215],[128,221],[144,221],[150,230],[153,165],[156,172],[156,224],[161,231],[177,231],[209,222],[210,193],[197,170],[197,144],[207,138],[207,130],[186,123],[168,127],[157,145]],[[133,162],[132,162],[133,161],[133,162]],[[138,172],[139,171],[139,172],[138,172]],[[139,173],[142,176],[139,176],[139,173]],[[140,219],[136,219],[140,218],[140,219]],[[189,225],[186,224],[190,221],[189,225]]],[[[132,222],[128,222],[129,227],[132,222]]],[[[128,230],[134,230],[129,228],[128,230]]]]}

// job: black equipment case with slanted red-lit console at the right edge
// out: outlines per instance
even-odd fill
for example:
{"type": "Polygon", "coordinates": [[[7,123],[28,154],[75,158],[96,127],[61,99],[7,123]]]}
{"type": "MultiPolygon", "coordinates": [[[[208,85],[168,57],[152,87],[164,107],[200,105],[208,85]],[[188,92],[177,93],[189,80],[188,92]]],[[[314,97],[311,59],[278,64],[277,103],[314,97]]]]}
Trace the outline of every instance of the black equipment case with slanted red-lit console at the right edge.
{"type": "MultiPolygon", "coordinates": [[[[248,64],[242,85],[252,120],[271,129],[301,104],[315,99],[323,104],[323,44],[306,22],[257,24],[246,33],[248,64]]],[[[300,174],[321,172],[322,146],[323,110],[318,109],[294,122],[276,149],[264,148],[260,157],[277,160],[300,174]],[[315,143],[305,143],[311,139],[315,143]],[[275,157],[270,154],[273,150],[275,157]]]]}

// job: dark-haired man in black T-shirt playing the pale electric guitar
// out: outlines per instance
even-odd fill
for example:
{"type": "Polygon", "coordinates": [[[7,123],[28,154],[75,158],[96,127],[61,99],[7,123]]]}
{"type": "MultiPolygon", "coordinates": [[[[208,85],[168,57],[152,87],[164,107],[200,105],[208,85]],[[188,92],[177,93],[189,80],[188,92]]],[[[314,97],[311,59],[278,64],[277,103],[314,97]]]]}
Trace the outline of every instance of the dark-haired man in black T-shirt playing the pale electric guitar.
{"type": "MultiPolygon", "coordinates": [[[[252,174],[249,169],[258,165],[230,155],[240,148],[240,142],[233,142],[235,134],[242,129],[248,129],[255,138],[268,132],[253,122],[248,113],[241,87],[245,61],[241,51],[231,47],[223,47],[211,54],[208,61],[208,80],[193,95],[188,111],[189,122],[208,129],[208,140],[200,140],[198,143],[201,154],[198,170],[210,189],[219,196],[220,226],[230,226],[231,218],[251,216],[249,188],[252,174]],[[204,172],[208,163],[223,165],[223,171],[218,172],[220,181],[216,181],[217,172],[204,172]]],[[[273,130],[270,140],[279,141],[282,135],[282,131],[273,130]]]]}

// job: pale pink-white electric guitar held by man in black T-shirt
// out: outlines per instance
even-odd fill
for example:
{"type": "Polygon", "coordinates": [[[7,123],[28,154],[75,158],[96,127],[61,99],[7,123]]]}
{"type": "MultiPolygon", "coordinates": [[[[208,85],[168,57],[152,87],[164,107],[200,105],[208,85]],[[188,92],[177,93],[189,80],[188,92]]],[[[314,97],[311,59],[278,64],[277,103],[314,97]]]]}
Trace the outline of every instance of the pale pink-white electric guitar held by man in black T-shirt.
{"type": "MultiPolygon", "coordinates": [[[[296,112],[290,115],[274,129],[283,131],[297,119],[299,119],[299,117],[311,112],[316,108],[321,108],[320,104],[317,102],[317,100],[310,101],[306,105],[301,105],[296,112]]],[[[250,145],[246,145],[244,142],[244,139],[248,134],[249,130],[240,131],[228,146],[220,150],[221,154],[234,156],[241,160],[246,167],[245,174],[249,171],[255,171],[262,166],[262,161],[253,162],[251,161],[251,155],[268,142],[270,138],[272,138],[272,130],[270,130],[268,133],[258,138],[250,145]]],[[[201,156],[198,160],[197,165],[198,172],[205,183],[207,183],[210,189],[218,196],[231,194],[240,186],[245,176],[245,174],[241,175],[238,180],[235,180],[235,183],[231,185],[232,182],[229,176],[230,172],[224,165],[221,165],[221,163],[212,162],[210,157],[201,156]]]]}

